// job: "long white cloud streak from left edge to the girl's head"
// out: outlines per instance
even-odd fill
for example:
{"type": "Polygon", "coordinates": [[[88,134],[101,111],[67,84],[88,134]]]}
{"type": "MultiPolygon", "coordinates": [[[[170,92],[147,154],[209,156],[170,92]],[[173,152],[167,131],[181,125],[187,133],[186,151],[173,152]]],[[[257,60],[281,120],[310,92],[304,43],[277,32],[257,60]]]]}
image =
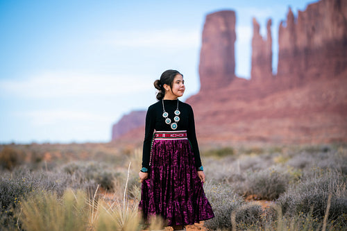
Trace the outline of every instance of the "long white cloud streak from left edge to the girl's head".
{"type": "Polygon", "coordinates": [[[0,90],[10,96],[33,99],[71,96],[121,96],[152,89],[149,76],[45,72],[25,79],[0,80],[0,90]]]}

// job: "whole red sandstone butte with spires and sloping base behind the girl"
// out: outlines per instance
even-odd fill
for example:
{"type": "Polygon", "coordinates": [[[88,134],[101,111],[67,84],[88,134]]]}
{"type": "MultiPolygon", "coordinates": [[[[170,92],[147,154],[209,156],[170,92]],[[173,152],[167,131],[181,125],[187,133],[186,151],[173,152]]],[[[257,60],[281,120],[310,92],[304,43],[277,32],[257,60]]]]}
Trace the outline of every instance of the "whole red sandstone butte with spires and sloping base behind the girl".
{"type": "MultiPolygon", "coordinates": [[[[279,28],[277,74],[271,67],[271,20],[266,38],[259,31],[253,19],[251,79],[239,78],[235,12],[207,15],[201,89],[187,99],[194,109],[198,142],[347,142],[347,1],[321,0],[297,17],[289,9],[279,28]]],[[[144,124],[117,139],[128,137],[142,140],[144,124]]]]}

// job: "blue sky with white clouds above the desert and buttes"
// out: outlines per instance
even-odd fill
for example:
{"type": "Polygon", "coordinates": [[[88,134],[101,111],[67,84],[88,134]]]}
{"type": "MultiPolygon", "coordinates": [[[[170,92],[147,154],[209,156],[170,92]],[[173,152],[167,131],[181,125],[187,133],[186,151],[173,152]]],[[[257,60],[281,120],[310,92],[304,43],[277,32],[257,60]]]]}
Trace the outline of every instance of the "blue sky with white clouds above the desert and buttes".
{"type": "Polygon", "coordinates": [[[166,69],[185,76],[182,100],[199,89],[205,16],[235,10],[236,74],[251,73],[252,18],[271,18],[276,71],[278,26],[289,6],[273,1],[0,0],[0,143],[108,142],[131,110],[155,103],[166,69]]]}

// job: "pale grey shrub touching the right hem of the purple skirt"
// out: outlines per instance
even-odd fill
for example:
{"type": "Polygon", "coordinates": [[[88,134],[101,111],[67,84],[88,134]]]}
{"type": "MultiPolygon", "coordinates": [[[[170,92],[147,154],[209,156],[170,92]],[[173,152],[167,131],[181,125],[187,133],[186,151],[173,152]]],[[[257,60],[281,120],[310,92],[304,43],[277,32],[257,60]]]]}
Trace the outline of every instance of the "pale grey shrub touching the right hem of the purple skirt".
{"type": "Polygon", "coordinates": [[[214,218],[205,221],[205,226],[211,230],[230,229],[232,211],[245,204],[242,197],[235,194],[229,185],[213,185],[206,182],[205,194],[211,203],[214,218]]]}

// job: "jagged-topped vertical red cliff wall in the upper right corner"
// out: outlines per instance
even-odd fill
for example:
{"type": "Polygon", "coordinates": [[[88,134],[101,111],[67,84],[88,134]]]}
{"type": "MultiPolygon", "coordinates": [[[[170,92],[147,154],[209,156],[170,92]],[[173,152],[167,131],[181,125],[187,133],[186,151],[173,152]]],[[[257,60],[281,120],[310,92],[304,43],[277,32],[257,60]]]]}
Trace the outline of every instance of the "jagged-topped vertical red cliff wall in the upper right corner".
{"type": "Polygon", "coordinates": [[[279,28],[278,76],[339,76],[347,66],[346,15],[347,1],[342,0],[312,3],[297,18],[289,10],[279,28]]]}

